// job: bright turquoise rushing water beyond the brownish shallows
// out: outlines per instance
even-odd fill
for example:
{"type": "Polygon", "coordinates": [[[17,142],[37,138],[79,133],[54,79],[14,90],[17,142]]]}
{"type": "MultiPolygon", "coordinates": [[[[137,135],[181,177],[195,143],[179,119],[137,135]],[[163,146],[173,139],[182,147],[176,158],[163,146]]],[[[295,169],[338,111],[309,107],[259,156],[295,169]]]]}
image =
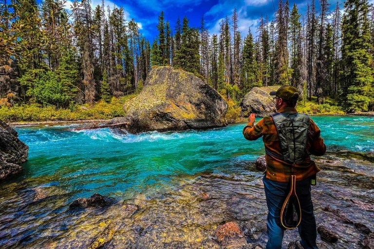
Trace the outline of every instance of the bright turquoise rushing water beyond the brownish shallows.
{"type": "MultiPolygon", "coordinates": [[[[374,152],[374,118],[314,116],[328,151],[374,152]]],[[[259,119],[258,119],[259,120],[259,119]]],[[[205,131],[120,134],[110,129],[69,131],[69,126],[19,126],[29,145],[21,178],[49,176],[72,197],[93,192],[129,196],[170,178],[229,172],[264,154],[262,140],[246,141],[244,124],[205,131]]]]}

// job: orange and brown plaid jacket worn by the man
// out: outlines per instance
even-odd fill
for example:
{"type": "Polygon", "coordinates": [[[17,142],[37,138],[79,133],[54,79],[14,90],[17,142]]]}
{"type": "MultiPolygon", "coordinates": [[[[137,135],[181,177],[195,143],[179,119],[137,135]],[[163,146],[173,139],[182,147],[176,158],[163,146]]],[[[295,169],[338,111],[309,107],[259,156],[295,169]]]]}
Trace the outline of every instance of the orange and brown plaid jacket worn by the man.
{"type": "MultiPolygon", "coordinates": [[[[285,107],[279,109],[278,112],[289,113],[297,112],[297,110],[294,107],[285,107]]],[[[264,117],[256,125],[248,123],[243,129],[243,135],[245,139],[251,141],[263,137],[262,140],[266,149],[281,158],[278,132],[271,116],[264,117]]],[[[326,145],[320,136],[320,130],[312,119],[310,119],[306,150],[309,154],[315,156],[322,156],[326,152],[326,145]]],[[[293,173],[293,164],[266,154],[266,166],[266,178],[273,181],[289,182],[293,173]]],[[[294,173],[296,180],[299,181],[315,175],[319,170],[316,163],[308,155],[302,162],[295,164],[294,173]]]]}

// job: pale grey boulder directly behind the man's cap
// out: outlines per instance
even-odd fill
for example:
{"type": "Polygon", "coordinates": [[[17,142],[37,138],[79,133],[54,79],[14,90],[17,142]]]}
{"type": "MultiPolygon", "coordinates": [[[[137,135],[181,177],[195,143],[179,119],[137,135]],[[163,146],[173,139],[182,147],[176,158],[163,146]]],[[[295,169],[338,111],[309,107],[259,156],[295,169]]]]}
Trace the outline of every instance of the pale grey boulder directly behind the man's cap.
{"type": "Polygon", "coordinates": [[[273,96],[270,96],[271,91],[276,91],[278,86],[253,88],[248,92],[240,107],[242,107],[241,115],[248,117],[250,113],[255,113],[257,117],[269,116],[276,112],[273,96]]]}

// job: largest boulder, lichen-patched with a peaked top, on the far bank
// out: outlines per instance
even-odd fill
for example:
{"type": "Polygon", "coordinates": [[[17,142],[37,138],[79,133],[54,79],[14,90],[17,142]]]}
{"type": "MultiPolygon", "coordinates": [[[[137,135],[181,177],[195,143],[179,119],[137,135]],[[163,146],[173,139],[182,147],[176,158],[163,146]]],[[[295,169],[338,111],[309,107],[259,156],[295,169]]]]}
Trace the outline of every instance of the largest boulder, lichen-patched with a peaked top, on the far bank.
{"type": "Polygon", "coordinates": [[[222,127],[227,103],[194,74],[172,67],[153,67],[143,90],[124,105],[131,133],[222,127]]]}

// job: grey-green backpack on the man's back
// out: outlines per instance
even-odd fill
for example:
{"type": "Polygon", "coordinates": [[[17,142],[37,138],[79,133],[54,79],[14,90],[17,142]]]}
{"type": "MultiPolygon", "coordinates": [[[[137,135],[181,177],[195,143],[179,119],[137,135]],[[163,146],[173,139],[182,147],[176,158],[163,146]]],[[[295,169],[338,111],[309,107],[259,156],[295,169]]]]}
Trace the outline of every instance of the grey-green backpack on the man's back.
{"type": "Polygon", "coordinates": [[[277,127],[281,145],[281,158],[266,150],[270,156],[289,163],[299,163],[307,155],[306,142],[310,118],[307,114],[292,112],[288,115],[276,112],[271,115],[277,127]]]}

